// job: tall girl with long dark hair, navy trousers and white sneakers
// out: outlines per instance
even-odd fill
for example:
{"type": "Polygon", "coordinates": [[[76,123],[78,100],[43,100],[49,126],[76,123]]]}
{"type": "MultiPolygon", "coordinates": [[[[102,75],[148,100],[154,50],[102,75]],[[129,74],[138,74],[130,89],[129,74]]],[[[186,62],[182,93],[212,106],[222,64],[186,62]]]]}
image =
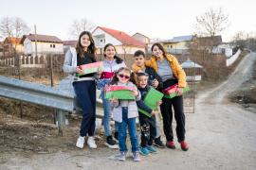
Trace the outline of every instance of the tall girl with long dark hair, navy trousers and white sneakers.
{"type": "Polygon", "coordinates": [[[94,140],[96,121],[96,73],[84,74],[81,65],[96,62],[95,43],[92,34],[82,31],[76,48],[70,48],[64,57],[64,72],[72,76],[73,87],[82,107],[80,136],[76,146],[83,148],[84,137],[88,134],[87,144],[97,148],[94,140]]]}

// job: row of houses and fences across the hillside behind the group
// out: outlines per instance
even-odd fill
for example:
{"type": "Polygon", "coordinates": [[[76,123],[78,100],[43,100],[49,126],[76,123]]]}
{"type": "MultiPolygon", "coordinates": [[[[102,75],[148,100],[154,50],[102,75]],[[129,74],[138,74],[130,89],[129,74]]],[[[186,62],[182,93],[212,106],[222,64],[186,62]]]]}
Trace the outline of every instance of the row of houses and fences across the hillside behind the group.
{"type": "MultiPolygon", "coordinates": [[[[98,59],[103,59],[104,45],[112,43],[115,45],[119,56],[125,59],[128,67],[134,61],[135,51],[142,50],[150,57],[152,44],[159,42],[182,65],[186,65],[185,71],[195,70],[196,80],[201,80],[202,77],[215,78],[216,76],[212,76],[214,73],[210,73],[209,67],[221,65],[225,70],[238,59],[242,50],[237,44],[222,42],[221,36],[185,35],[166,38],[166,40],[155,40],[138,32],[131,36],[124,31],[103,26],[97,26],[92,31],[92,35],[96,43],[98,59]],[[232,59],[237,52],[239,54],[236,55],[235,59],[232,59]],[[232,62],[229,59],[232,59],[232,62]]],[[[58,62],[57,60],[63,61],[64,53],[70,47],[76,47],[76,43],[76,40],[61,40],[57,36],[43,34],[28,34],[21,38],[7,37],[3,42],[0,42],[0,65],[42,68],[48,64],[47,56],[49,55],[54,55],[56,62],[58,62]]],[[[59,65],[61,68],[62,62],[55,65],[59,65]]],[[[187,74],[191,75],[189,71],[187,74]]]]}

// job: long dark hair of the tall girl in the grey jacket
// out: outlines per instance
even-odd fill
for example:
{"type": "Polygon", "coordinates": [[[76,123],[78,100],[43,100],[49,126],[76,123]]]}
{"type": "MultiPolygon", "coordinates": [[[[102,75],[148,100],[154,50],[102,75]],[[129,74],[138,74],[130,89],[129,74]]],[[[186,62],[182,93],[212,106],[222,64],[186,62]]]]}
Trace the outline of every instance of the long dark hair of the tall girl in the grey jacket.
{"type": "Polygon", "coordinates": [[[82,31],[82,33],[79,36],[79,40],[78,40],[77,46],[76,46],[77,54],[79,54],[79,56],[82,57],[82,58],[83,58],[83,55],[85,53],[83,51],[82,44],[81,44],[81,38],[82,38],[83,35],[87,35],[90,39],[90,42],[91,42],[90,45],[87,48],[87,52],[91,53],[91,54],[95,54],[95,50],[96,50],[95,42],[92,38],[92,34],[89,31],[82,31]]]}

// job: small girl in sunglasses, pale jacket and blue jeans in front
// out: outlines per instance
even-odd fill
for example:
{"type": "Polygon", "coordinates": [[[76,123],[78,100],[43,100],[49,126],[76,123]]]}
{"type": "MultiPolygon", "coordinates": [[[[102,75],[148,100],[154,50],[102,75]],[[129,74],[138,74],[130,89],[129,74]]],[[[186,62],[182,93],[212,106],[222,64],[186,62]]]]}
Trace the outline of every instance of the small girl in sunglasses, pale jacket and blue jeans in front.
{"type": "MultiPolygon", "coordinates": [[[[125,86],[132,88],[131,95],[136,96],[136,101],[140,99],[140,93],[137,91],[135,84],[130,82],[131,71],[128,68],[120,68],[112,79],[111,84],[117,86],[125,86]]],[[[138,138],[137,138],[137,104],[135,100],[125,100],[113,98],[110,100],[113,110],[113,119],[118,123],[119,127],[119,161],[125,161],[126,153],[128,151],[126,146],[126,130],[128,127],[132,152],[134,161],[140,161],[138,152],[138,138]]]]}

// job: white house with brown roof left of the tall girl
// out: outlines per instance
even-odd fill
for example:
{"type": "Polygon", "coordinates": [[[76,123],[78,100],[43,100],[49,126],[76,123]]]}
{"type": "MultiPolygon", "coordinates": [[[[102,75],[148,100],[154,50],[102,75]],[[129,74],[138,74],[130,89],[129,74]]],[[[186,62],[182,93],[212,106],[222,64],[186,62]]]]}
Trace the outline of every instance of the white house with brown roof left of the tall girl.
{"type": "Polygon", "coordinates": [[[64,42],[56,36],[29,34],[23,36],[21,43],[24,45],[25,55],[34,56],[36,47],[38,55],[64,53],[64,42]]]}

